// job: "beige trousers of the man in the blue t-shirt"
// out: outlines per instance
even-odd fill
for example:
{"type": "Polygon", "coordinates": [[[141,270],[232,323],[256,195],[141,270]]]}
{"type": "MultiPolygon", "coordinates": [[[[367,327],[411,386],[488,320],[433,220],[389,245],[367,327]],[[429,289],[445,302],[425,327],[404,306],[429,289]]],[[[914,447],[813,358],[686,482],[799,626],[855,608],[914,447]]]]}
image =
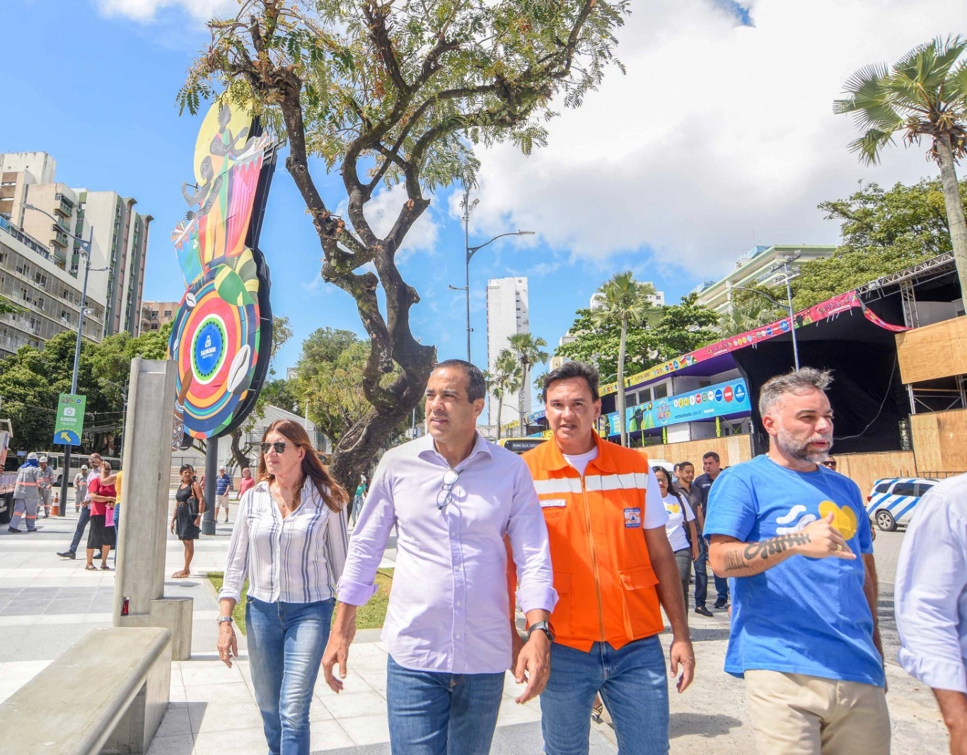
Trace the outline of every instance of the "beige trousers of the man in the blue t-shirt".
{"type": "Polygon", "coordinates": [[[883,687],[750,670],[746,695],[760,755],[890,752],[890,712],[883,687]]]}

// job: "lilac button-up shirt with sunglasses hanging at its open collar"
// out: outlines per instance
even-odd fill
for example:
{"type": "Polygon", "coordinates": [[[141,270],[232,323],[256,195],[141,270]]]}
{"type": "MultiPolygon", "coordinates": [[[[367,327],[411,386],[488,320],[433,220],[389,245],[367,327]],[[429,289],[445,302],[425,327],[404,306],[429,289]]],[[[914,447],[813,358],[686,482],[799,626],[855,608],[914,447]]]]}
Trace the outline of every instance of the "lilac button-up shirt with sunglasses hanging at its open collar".
{"type": "Polygon", "coordinates": [[[393,659],[417,671],[496,674],[511,665],[504,536],[521,608],[551,611],[557,593],[547,528],[530,471],[515,453],[478,434],[440,510],[449,469],[428,435],[387,451],[349,539],[338,598],[362,605],[376,592],[376,568],[398,525],[382,635],[393,659]]]}

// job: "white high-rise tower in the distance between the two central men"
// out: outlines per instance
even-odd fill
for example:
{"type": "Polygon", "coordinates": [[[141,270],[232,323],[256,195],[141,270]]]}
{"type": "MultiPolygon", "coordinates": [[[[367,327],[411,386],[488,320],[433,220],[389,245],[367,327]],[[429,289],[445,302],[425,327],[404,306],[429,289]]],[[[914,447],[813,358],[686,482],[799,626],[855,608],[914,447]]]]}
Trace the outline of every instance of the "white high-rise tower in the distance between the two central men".
{"type": "MultiPolygon", "coordinates": [[[[493,370],[497,355],[511,344],[513,334],[530,333],[531,321],[527,307],[527,278],[490,278],[486,284],[486,365],[493,370]]],[[[528,378],[529,379],[529,378],[528,378]]],[[[531,411],[531,392],[524,390],[524,415],[531,411]]],[[[519,401],[505,396],[501,417],[497,417],[497,399],[489,396],[487,423],[504,424],[520,419],[519,401]]]]}

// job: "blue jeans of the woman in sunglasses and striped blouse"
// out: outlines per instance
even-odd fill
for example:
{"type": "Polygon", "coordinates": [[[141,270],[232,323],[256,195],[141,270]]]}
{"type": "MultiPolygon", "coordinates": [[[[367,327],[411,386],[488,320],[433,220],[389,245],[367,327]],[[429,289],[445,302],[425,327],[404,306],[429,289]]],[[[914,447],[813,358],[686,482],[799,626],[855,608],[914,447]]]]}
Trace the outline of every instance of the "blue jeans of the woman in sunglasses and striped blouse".
{"type": "Polygon", "coordinates": [[[249,668],[270,755],[308,755],[308,709],[329,640],[333,598],[267,603],[249,597],[249,668]]]}

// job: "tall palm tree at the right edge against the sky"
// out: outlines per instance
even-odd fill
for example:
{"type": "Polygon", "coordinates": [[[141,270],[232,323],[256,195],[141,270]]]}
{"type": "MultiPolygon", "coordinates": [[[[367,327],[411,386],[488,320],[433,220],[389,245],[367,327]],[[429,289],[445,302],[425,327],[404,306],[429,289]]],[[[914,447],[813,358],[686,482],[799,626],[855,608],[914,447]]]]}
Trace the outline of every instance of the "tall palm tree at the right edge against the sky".
{"type": "Polygon", "coordinates": [[[848,100],[833,103],[835,113],[852,113],[864,131],[849,145],[860,160],[875,164],[881,148],[902,132],[907,144],[930,139],[929,155],[940,165],[953,259],[960,290],[967,292],[967,221],[954,163],[967,155],[967,60],[957,63],[967,41],[959,37],[914,47],[894,63],[866,66],[845,84],[848,100]]]}

